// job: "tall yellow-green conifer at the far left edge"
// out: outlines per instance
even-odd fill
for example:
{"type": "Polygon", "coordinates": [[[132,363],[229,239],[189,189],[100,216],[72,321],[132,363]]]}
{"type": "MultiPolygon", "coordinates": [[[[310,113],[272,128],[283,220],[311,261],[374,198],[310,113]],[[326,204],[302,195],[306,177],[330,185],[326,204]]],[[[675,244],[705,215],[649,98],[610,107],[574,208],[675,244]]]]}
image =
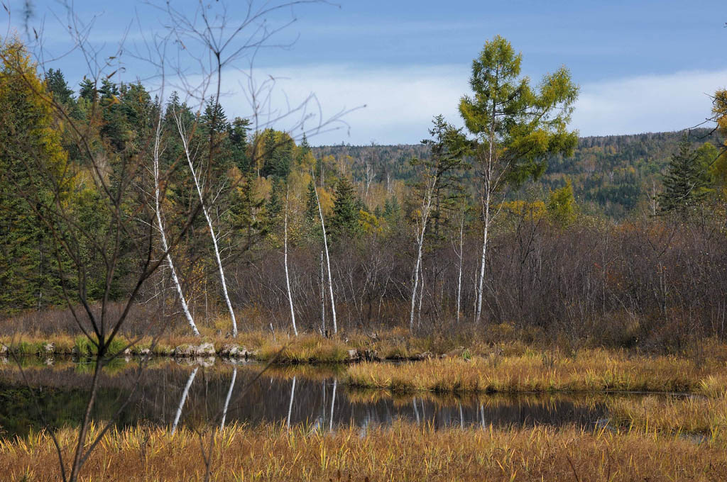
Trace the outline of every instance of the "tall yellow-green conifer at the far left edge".
{"type": "Polygon", "coordinates": [[[6,311],[58,303],[60,273],[44,220],[68,203],[67,154],[46,87],[19,41],[0,44],[0,306],[6,311]],[[53,182],[57,184],[53,184],[53,182]]]}

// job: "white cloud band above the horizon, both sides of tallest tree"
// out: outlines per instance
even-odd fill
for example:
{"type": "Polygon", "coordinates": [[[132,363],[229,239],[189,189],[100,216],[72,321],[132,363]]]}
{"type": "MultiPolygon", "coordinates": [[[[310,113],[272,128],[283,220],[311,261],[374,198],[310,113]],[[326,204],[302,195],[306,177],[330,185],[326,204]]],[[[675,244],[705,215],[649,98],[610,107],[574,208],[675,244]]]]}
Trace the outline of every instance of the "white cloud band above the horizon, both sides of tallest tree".
{"type": "MultiPolygon", "coordinates": [[[[350,135],[347,128],[342,128],[313,137],[313,144],[419,142],[427,137],[433,115],[441,113],[450,122],[461,124],[457,103],[469,90],[467,65],[324,65],[268,69],[265,74],[280,77],[273,95],[273,107],[277,110],[286,109],[286,99],[295,105],[311,92],[316,93],[324,118],[342,109],[366,105],[345,116],[350,135]]],[[[727,70],[585,83],[572,126],[584,136],[673,131],[694,126],[710,114],[709,94],[726,84],[727,70]]],[[[230,91],[239,90],[232,88],[232,82],[228,86],[230,91]]],[[[241,95],[225,98],[223,104],[230,115],[246,115],[250,110],[241,95]]],[[[278,128],[290,125],[289,120],[278,124],[278,128]]]]}

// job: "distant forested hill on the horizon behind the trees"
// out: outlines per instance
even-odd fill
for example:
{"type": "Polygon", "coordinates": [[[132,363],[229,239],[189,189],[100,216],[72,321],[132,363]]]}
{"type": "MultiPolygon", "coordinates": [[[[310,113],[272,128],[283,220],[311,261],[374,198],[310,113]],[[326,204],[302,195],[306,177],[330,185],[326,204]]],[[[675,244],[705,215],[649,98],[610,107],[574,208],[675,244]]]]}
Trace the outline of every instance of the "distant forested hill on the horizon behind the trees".
{"type": "MultiPolygon", "coordinates": [[[[682,132],[656,132],[622,136],[589,136],[579,139],[578,147],[569,158],[548,160],[545,176],[527,189],[549,192],[563,186],[566,176],[571,179],[574,194],[581,208],[613,218],[623,218],[635,208],[646,207],[651,195],[661,189],[664,166],[667,165],[682,132]]],[[[691,131],[694,147],[704,142],[721,144],[710,129],[691,131]]],[[[411,179],[409,160],[428,158],[422,144],[367,145],[348,144],[314,147],[316,157],[332,155],[349,164],[353,178],[364,179],[366,164],[374,166],[377,181],[411,179]],[[347,156],[349,156],[347,158],[347,156]]]]}

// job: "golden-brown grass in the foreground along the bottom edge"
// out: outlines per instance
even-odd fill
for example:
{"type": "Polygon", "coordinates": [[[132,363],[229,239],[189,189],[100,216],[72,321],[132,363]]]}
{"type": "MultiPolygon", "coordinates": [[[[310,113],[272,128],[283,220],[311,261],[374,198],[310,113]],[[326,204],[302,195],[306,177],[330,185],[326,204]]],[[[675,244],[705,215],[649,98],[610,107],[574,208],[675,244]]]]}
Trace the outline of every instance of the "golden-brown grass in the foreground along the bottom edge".
{"type": "MultiPolygon", "coordinates": [[[[97,428],[95,428],[97,430],[97,428]]],[[[58,433],[71,446],[73,433],[58,433]]],[[[390,428],[311,433],[280,425],[230,426],[214,435],[212,481],[717,481],[727,452],[638,430],[390,428]]],[[[81,473],[92,481],[201,481],[198,436],[178,430],[112,431],[81,473]]],[[[50,438],[0,441],[8,480],[57,479],[50,438]]]]}

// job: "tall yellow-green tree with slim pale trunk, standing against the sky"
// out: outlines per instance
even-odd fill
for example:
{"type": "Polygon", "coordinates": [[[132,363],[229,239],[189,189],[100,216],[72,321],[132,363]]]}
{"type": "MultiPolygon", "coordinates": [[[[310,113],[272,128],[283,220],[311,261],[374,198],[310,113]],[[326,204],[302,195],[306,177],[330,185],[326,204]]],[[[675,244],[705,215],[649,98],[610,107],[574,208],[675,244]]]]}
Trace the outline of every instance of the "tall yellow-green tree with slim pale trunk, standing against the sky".
{"type": "Polygon", "coordinates": [[[577,131],[569,131],[578,87],[568,69],[547,74],[537,87],[521,76],[522,54],[496,36],[486,42],[472,62],[473,95],[462,97],[459,113],[473,134],[471,155],[480,178],[483,223],[475,322],[482,312],[487,243],[505,187],[517,187],[545,172],[548,155],[569,154],[576,147],[577,131]]]}

